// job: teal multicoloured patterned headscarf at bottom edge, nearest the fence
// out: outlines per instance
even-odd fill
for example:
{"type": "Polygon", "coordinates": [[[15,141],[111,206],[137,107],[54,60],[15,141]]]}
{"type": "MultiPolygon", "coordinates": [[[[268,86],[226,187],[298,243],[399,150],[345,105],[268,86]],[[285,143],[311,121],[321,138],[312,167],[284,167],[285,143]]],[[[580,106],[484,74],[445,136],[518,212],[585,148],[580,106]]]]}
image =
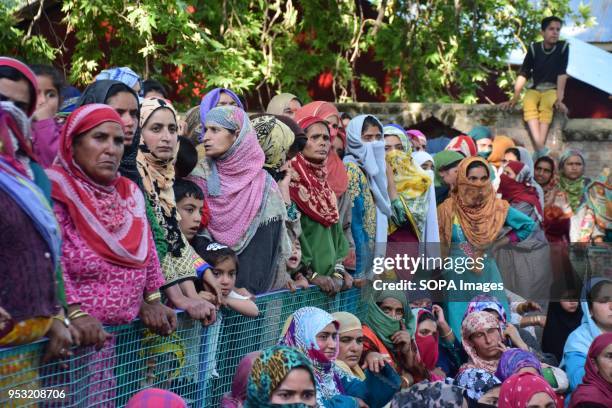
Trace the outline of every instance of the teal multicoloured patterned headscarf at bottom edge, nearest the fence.
{"type": "Polygon", "coordinates": [[[315,383],[310,361],[292,347],[272,346],[261,353],[253,363],[249,375],[245,408],[307,408],[304,404],[272,404],[270,397],[291,370],[303,368],[315,383]]]}

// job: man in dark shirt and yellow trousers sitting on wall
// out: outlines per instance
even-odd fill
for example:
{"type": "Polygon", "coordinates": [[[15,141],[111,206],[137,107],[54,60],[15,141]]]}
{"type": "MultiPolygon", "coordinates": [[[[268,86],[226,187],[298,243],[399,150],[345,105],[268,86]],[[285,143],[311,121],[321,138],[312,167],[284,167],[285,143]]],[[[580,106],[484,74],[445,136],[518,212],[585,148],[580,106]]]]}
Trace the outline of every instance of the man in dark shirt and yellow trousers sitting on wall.
{"type": "Polygon", "coordinates": [[[567,113],[563,97],[567,82],[565,71],[569,46],[565,41],[559,41],[561,24],[561,19],[555,16],[542,20],[544,40],[529,46],[514,85],[514,96],[502,103],[503,108],[514,107],[527,80],[531,80],[523,98],[523,116],[529,125],[536,151],[546,145],[546,136],[553,117],[553,106],[567,113]]]}

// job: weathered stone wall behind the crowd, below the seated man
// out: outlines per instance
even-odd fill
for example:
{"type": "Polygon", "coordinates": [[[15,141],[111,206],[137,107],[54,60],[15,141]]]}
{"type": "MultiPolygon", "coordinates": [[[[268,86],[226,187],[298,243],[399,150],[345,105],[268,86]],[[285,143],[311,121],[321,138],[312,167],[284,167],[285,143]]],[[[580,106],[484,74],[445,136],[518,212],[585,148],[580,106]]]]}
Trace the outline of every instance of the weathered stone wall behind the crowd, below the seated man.
{"type": "MultiPolygon", "coordinates": [[[[532,148],[521,108],[502,111],[495,105],[436,103],[348,103],[337,105],[351,116],[376,115],[383,123],[398,123],[409,128],[434,118],[445,126],[466,133],[476,125],[491,128],[494,134],[507,135],[532,148]]],[[[555,113],[547,144],[558,155],[566,146],[582,149],[587,156],[587,175],[594,176],[612,160],[612,119],[567,119],[555,113]]]]}

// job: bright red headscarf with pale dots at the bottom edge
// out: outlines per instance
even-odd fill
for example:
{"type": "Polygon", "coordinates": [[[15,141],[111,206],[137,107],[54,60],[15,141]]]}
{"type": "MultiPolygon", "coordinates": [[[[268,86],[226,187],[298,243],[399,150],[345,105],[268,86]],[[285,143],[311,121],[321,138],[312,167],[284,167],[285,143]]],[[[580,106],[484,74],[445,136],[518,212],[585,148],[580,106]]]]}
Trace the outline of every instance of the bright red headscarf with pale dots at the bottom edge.
{"type": "Polygon", "coordinates": [[[535,394],[545,392],[557,403],[557,395],[546,380],[533,373],[518,373],[502,383],[499,408],[525,408],[535,394]]]}

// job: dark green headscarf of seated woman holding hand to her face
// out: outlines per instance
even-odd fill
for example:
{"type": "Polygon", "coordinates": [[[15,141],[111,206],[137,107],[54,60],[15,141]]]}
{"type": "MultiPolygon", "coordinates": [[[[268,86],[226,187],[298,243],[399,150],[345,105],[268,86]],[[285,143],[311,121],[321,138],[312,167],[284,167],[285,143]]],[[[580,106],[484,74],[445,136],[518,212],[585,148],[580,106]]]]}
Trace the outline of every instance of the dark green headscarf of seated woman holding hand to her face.
{"type": "Polygon", "coordinates": [[[393,298],[404,306],[404,324],[410,334],[414,334],[414,316],[410,310],[406,294],[400,290],[374,291],[373,295],[370,296],[368,300],[368,312],[364,319],[364,323],[376,333],[385,346],[389,349],[393,349],[394,345],[391,341],[391,336],[401,329],[400,322],[399,320],[387,316],[378,306],[378,303],[388,298],[393,298]]]}

